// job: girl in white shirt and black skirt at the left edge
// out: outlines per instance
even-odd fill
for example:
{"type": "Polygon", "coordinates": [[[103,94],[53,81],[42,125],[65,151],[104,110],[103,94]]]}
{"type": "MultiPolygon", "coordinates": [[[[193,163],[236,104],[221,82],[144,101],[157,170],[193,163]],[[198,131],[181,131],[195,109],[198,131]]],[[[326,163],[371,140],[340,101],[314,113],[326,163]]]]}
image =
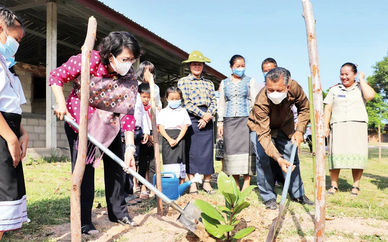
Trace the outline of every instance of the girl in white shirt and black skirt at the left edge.
{"type": "Polygon", "coordinates": [[[25,34],[20,19],[0,6],[0,240],[4,231],[27,222],[26,186],[21,160],[28,134],[21,125],[20,105],[26,103],[20,80],[9,70],[25,34]]]}

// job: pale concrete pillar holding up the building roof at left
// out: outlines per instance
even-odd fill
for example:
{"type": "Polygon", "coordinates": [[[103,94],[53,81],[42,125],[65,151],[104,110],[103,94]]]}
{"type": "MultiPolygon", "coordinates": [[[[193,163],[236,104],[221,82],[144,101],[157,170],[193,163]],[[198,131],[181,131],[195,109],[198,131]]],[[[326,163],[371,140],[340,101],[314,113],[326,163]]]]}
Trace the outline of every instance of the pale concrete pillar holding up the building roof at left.
{"type": "Polygon", "coordinates": [[[55,104],[55,97],[49,87],[50,72],[57,67],[57,3],[49,1],[46,6],[46,148],[57,148],[57,118],[51,109],[55,104]]]}

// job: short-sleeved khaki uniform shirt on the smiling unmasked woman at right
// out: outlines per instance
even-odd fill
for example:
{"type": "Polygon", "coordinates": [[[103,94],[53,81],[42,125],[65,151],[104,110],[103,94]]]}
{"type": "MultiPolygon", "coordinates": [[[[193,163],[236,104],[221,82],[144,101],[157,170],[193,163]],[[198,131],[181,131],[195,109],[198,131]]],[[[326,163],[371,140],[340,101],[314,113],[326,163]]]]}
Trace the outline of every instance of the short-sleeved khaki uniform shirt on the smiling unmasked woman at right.
{"type": "Polygon", "coordinates": [[[330,88],[323,100],[324,104],[333,105],[330,124],[346,121],[368,122],[366,102],[359,83],[355,83],[349,90],[341,83],[337,84],[330,88]]]}

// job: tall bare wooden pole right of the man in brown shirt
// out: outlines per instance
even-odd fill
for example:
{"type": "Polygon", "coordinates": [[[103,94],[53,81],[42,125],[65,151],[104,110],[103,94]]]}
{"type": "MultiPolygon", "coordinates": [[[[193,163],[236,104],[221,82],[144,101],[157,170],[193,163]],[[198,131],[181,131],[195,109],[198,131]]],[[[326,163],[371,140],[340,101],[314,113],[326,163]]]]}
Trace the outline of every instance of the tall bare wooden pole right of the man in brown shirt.
{"type": "Polygon", "coordinates": [[[321,76],[319,69],[318,45],[317,36],[315,34],[315,20],[312,11],[312,4],[308,0],[302,0],[303,17],[306,22],[307,33],[307,48],[308,59],[310,63],[313,105],[314,105],[314,121],[315,121],[315,177],[316,177],[316,196],[315,196],[315,242],[324,242],[324,225],[326,213],[325,199],[325,145],[324,145],[324,129],[323,129],[323,95],[321,86],[321,76]]]}

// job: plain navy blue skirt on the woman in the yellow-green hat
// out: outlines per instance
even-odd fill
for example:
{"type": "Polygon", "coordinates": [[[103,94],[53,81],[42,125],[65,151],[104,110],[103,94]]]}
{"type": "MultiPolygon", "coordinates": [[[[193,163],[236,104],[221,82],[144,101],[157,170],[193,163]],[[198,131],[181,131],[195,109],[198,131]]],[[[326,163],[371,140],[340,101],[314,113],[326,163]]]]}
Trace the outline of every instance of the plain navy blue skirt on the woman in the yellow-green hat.
{"type": "MultiPolygon", "coordinates": [[[[208,107],[198,106],[206,112],[208,107]]],[[[213,122],[198,129],[199,117],[189,113],[192,125],[187,129],[186,140],[186,173],[201,175],[214,174],[213,122]]]]}

